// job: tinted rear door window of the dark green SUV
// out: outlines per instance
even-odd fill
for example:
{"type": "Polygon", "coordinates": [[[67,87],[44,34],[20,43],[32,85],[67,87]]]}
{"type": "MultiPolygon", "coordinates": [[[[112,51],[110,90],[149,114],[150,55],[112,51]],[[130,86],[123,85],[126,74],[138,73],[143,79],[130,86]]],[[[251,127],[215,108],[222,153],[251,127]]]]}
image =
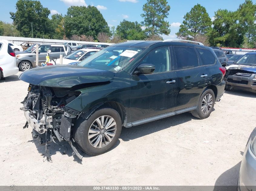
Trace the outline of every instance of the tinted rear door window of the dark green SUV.
{"type": "Polygon", "coordinates": [[[177,69],[187,69],[199,66],[198,56],[194,48],[175,46],[177,69]]]}

